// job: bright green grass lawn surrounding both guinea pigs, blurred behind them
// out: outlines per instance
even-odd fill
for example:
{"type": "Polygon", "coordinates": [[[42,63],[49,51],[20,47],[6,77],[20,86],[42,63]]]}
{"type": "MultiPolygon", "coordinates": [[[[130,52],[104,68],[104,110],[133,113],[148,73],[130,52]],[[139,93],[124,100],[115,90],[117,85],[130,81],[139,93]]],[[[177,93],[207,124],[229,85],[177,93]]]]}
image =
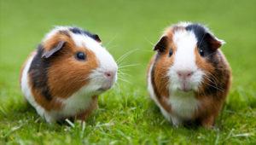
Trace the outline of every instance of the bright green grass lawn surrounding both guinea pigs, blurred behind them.
{"type": "Polygon", "coordinates": [[[0,0],[0,144],[256,144],[256,1],[0,0]],[[216,128],[174,128],[149,99],[145,72],[163,29],[180,20],[207,24],[227,44],[233,69],[230,95],[216,128]],[[119,81],[100,96],[84,125],[48,125],[26,105],[20,66],[55,25],[100,34],[115,59],[131,49],[119,81]]]}

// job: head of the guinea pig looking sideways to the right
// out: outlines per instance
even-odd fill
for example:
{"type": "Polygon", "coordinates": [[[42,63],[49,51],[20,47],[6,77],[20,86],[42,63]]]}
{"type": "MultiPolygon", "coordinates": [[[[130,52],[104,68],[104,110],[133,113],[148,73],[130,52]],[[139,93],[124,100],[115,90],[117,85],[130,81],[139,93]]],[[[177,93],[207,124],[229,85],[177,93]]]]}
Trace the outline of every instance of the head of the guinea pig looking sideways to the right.
{"type": "Polygon", "coordinates": [[[96,34],[58,26],[46,35],[42,48],[52,96],[66,98],[79,90],[98,95],[117,79],[117,64],[96,34]]]}

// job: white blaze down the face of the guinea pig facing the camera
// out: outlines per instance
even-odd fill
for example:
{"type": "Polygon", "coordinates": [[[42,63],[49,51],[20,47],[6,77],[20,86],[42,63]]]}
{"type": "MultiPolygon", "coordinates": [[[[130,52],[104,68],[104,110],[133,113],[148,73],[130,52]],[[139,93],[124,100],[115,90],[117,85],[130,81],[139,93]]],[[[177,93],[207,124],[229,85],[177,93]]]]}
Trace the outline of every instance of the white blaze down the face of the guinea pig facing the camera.
{"type": "Polygon", "coordinates": [[[174,53],[174,62],[169,68],[168,76],[171,80],[170,89],[175,91],[182,85],[182,80],[178,77],[178,71],[191,71],[193,75],[189,78],[189,86],[197,90],[203,78],[203,71],[195,64],[195,48],[197,39],[194,32],[185,30],[177,31],[173,36],[173,43],[177,47],[174,53]]]}

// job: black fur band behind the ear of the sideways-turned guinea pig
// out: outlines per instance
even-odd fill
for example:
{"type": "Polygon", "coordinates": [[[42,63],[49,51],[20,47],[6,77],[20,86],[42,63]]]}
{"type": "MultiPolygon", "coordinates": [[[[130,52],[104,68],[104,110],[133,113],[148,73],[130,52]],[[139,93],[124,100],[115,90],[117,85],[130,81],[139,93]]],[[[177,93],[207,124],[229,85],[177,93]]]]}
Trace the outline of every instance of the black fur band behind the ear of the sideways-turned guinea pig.
{"type": "Polygon", "coordinates": [[[47,70],[50,66],[49,60],[42,59],[44,53],[43,46],[40,44],[38,46],[37,55],[34,56],[31,67],[29,68],[29,76],[32,81],[32,89],[39,90],[48,101],[52,99],[52,96],[49,92],[48,86],[48,74],[47,70]]]}

